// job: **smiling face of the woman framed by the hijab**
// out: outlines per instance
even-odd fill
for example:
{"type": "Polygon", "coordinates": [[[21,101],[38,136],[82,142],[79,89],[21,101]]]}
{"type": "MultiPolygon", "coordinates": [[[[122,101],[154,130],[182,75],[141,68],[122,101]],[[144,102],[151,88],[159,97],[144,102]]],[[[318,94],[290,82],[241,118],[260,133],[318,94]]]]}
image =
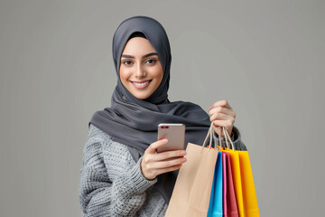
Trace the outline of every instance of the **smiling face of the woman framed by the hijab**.
{"type": "Polygon", "coordinates": [[[120,79],[137,99],[147,99],[163,80],[163,67],[153,45],[135,37],[125,44],[120,63],[120,79]]]}

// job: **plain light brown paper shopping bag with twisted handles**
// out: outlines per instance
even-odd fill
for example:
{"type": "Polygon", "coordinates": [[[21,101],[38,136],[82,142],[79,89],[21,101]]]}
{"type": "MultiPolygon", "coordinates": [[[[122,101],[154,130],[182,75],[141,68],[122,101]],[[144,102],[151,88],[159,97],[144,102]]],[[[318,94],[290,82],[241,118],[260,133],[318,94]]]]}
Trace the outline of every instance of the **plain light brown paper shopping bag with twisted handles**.
{"type": "Polygon", "coordinates": [[[166,217],[207,216],[218,151],[211,149],[212,124],[203,145],[188,143],[187,162],[181,165],[166,217]],[[209,148],[205,143],[210,137],[209,148]]]}

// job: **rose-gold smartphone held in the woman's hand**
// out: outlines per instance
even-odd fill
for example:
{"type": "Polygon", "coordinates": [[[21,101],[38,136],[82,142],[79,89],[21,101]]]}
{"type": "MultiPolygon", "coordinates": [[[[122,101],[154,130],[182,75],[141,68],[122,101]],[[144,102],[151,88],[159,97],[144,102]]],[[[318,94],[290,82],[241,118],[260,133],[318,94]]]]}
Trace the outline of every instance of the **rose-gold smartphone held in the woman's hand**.
{"type": "Polygon", "coordinates": [[[184,149],[185,125],[183,124],[159,124],[158,140],[167,138],[166,145],[157,148],[157,153],[184,149]]]}

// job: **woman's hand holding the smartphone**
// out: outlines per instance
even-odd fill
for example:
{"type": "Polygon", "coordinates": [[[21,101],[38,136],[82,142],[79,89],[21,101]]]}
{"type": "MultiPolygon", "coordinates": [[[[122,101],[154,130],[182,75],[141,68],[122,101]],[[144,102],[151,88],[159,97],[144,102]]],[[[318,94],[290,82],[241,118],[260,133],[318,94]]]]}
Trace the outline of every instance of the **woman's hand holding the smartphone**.
{"type": "Polygon", "coordinates": [[[144,151],[141,170],[146,179],[153,180],[157,175],[177,170],[186,162],[186,158],[184,157],[186,156],[185,150],[156,153],[159,146],[167,143],[167,138],[163,138],[152,143],[144,151]]]}

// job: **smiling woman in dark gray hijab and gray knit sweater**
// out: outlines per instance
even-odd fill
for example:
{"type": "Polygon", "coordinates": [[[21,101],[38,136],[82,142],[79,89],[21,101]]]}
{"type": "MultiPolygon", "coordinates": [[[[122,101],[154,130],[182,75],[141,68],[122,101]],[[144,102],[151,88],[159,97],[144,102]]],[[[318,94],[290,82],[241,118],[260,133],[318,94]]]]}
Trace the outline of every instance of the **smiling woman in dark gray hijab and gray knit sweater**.
{"type": "MultiPolygon", "coordinates": [[[[171,49],[163,26],[134,16],[120,24],[113,38],[117,74],[111,107],[97,111],[88,127],[79,186],[85,216],[163,216],[186,151],[155,154],[160,123],[183,123],[185,144],[202,144],[211,121],[215,141],[226,127],[234,145],[246,150],[234,127],[236,114],[226,100],[209,114],[184,101],[170,102],[171,49]]],[[[222,140],[224,141],[224,139],[222,140]]]]}

